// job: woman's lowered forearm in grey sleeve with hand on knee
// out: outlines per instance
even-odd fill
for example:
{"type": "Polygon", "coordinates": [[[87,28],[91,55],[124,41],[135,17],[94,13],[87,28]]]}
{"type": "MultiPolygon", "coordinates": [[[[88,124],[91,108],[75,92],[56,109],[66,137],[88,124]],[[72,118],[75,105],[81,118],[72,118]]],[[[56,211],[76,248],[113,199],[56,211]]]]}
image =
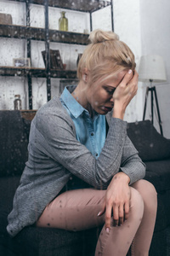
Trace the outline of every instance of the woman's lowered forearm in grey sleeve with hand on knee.
{"type": "Polygon", "coordinates": [[[128,218],[131,196],[129,185],[145,175],[145,165],[128,137],[123,147],[120,171],[122,172],[118,172],[112,177],[106,190],[105,205],[99,212],[99,216],[105,212],[107,232],[111,227],[111,218],[113,218],[114,226],[122,225],[128,218]]]}

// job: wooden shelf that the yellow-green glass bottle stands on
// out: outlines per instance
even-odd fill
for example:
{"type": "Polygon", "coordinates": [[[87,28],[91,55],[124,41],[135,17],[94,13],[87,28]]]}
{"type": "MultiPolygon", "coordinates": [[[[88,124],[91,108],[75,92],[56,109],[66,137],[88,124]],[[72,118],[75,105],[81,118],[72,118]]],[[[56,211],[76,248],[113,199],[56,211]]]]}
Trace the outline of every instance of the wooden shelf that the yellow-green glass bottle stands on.
{"type": "MultiPolygon", "coordinates": [[[[88,44],[88,34],[62,32],[49,29],[50,42],[63,44],[88,44]]],[[[32,26],[16,26],[0,24],[0,37],[45,41],[45,29],[32,26]]]]}

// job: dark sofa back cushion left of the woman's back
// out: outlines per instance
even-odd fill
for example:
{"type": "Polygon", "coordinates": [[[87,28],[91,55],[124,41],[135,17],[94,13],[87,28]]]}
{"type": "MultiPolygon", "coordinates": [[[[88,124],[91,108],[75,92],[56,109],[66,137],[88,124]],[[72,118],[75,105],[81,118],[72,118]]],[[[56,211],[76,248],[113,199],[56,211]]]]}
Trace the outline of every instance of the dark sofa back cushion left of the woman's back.
{"type": "Polygon", "coordinates": [[[20,111],[0,111],[0,177],[23,172],[28,158],[25,128],[20,111]]]}

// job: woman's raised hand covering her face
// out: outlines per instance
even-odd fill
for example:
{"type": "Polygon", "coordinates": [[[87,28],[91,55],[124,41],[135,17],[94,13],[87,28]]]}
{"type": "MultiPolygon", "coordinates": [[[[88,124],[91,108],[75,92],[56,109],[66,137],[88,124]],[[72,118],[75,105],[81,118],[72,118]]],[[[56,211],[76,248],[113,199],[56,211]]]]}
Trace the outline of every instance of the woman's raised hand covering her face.
{"type": "Polygon", "coordinates": [[[137,93],[138,77],[139,75],[136,70],[134,73],[132,70],[129,70],[122,79],[122,82],[116,87],[113,94],[113,117],[123,119],[127,105],[137,93]]]}

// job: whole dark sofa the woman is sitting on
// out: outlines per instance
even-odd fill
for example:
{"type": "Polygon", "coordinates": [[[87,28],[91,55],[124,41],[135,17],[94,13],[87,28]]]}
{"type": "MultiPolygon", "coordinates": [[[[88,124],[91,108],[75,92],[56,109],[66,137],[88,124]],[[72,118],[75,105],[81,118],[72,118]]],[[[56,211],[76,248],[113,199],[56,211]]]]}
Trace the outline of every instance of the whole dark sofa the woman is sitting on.
{"type": "MultiPolygon", "coordinates": [[[[31,120],[22,118],[20,111],[0,111],[0,255],[94,255],[99,229],[70,232],[30,226],[14,238],[8,236],[7,216],[27,160],[30,125],[31,120]]],[[[150,256],[166,256],[170,224],[170,140],[161,137],[149,120],[128,124],[127,133],[146,164],[145,179],[155,185],[158,193],[150,256]]]]}

